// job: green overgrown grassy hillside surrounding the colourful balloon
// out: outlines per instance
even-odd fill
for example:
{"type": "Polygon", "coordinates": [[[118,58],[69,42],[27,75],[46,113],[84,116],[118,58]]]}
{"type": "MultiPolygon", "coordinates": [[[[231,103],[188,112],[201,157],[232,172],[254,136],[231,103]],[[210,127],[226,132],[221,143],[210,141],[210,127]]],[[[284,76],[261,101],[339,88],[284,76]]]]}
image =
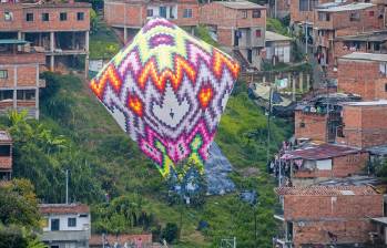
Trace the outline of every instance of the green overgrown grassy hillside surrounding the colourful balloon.
{"type": "MultiPolygon", "coordinates": [[[[108,31],[104,28],[93,34],[95,50],[104,46],[106,35],[101,32],[108,31]],[[100,43],[99,37],[104,37],[100,43]]],[[[165,225],[179,225],[182,217],[181,238],[174,247],[218,247],[223,238],[234,236],[238,247],[254,247],[254,209],[241,202],[237,193],[206,197],[197,208],[169,204],[157,169],[86,83],[77,75],[47,73],[44,78],[48,86],[41,95],[41,120],[2,120],[16,137],[14,176],[31,179],[42,202],[64,202],[64,170],[69,169],[70,199],[91,205],[93,232],[152,231],[159,240],[165,235],[165,225]],[[201,220],[208,226],[198,231],[201,220]]],[[[291,125],[274,120],[272,128],[274,152],[291,125]]],[[[246,84],[238,82],[215,140],[235,168],[231,177],[237,190],[259,194],[259,247],[271,247],[276,231],[274,183],[265,172],[266,135],[266,116],[247,97],[246,84]]]]}

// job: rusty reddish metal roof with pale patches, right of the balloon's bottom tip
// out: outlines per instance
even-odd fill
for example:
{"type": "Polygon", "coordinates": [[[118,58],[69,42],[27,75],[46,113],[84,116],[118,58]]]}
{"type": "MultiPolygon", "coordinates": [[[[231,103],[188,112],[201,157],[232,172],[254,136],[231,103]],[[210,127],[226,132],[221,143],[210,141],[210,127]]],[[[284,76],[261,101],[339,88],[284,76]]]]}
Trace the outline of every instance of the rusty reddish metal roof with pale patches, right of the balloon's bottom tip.
{"type": "Polygon", "coordinates": [[[309,161],[319,161],[332,157],[345,156],[353,153],[358,153],[360,149],[344,146],[344,145],[333,145],[323,144],[317,146],[309,146],[302,149],[295,149],[283,155],[284,159],[303,158],[309,161]]]}

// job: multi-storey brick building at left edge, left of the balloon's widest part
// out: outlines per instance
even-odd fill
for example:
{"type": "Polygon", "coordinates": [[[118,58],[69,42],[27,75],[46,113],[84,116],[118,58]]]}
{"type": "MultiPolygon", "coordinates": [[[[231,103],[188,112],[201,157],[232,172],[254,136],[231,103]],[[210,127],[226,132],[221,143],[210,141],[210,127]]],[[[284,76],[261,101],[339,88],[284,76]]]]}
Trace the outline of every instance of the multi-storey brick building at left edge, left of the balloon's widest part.
{"type": "MultiPolygon", "coordinates": [[[[1,4],[0,4],[1,6],[1,4]]],[[[22,40],[0,40],[0,113],[27,110],[39,118],[39,79],[44,53],[33,52],[22,40]]]]}

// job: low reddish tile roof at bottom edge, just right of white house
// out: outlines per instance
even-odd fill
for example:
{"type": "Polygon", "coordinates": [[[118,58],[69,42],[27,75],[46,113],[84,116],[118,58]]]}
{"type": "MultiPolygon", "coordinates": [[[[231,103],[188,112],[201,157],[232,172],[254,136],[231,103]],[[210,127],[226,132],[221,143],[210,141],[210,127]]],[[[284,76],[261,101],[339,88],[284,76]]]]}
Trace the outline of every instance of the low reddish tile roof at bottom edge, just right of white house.
{"type": "MultiPolygon", "coordinates": [[[[89,246],[102,246],[102,235],[92,235],[89,240],[89,246]]],[[[141,241],[142,244],[152,244],[152,235],[143,234],[143,235],[106,235],[105,241],[110,245],[114,242],[119,242],[124,245],[125,242],[136,242],[141,241]]]]}

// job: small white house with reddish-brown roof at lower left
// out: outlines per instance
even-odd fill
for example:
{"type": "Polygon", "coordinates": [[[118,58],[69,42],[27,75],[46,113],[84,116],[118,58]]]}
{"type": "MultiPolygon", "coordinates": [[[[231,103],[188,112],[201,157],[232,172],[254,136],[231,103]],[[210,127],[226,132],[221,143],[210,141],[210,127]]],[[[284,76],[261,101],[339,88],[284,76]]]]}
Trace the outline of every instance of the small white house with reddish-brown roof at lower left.
{"type": "Polygon", "coordinates": [[[90,209],[84,204],[42,204],[44,226],[41,240],[49,248],[89,248],[90,209]]]}

